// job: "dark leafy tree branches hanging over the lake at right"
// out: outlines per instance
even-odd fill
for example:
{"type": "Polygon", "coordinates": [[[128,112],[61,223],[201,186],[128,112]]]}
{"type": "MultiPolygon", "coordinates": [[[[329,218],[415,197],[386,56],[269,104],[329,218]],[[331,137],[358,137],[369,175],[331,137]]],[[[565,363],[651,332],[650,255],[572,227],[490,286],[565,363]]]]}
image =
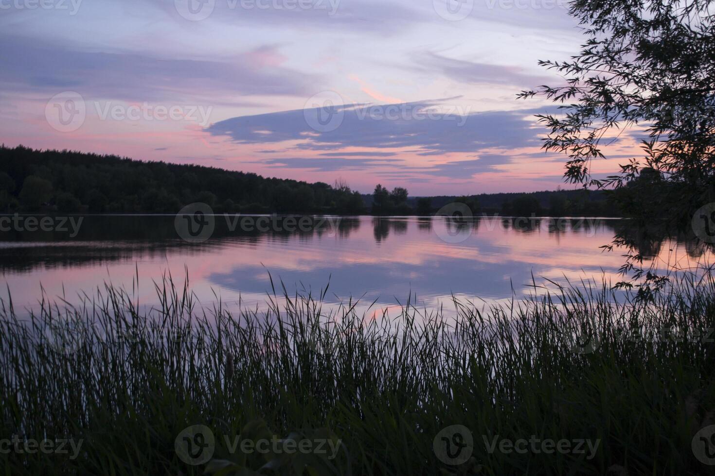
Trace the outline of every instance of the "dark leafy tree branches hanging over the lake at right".
{"type": "MultiPolygon", "coordinates": [[[[569,61],[540,61],[563,74],[566,84],[519,95],[546,96],[560,104],[558,114],[538,116],[549,129],[543,147],[568,155],[566,181],[616,188],[623,213],[649,233],[688,226],[697,208],[715,201],[711,1],[576,0],[570,5],[587,41],[569,61]],[[593,176],[593,160],[606,158],[603,148],[627,133],[647,137],[641,141],[643,155],[621,165],[617,175],[593,176]],[[621,192],[634,182],[636,201],[633,189],[621,192]]],[[[634,245],[624,236],[613,244],[634,245]]],[[[628,255],[622,271],[649,277],[642,288],[649,294],[663,281],[651,280],[642,263],[638,253],[628,255]]]]}

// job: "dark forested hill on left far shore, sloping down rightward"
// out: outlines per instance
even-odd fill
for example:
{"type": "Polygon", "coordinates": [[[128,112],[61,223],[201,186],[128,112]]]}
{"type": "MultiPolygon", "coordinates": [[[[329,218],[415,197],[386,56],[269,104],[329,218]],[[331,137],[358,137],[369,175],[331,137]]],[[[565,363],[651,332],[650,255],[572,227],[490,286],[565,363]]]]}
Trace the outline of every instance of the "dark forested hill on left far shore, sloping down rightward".
{"type": "Polygon", "coordinates": [[[0,211],[176,213],[193,202],[217,212],[365,212],[363,196],[345,183],[330,186],[206,166],[0,147],[0,211]]]}

